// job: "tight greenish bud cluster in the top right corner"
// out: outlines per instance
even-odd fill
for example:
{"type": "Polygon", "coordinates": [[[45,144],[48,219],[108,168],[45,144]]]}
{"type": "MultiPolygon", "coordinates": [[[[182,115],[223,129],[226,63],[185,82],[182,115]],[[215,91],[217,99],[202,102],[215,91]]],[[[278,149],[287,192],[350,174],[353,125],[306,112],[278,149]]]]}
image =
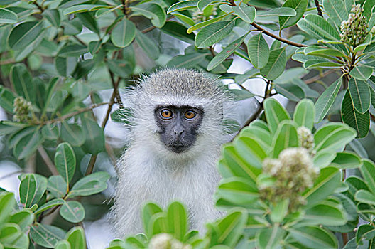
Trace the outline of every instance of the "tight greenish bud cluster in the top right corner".
{"type": "Polygon", "coordinates": [[[342,21],[340,34],[341,41],[350,46],[357,46],[364,42],[367,36],[367,18],[363,15],[364,9],[361,5],[353,5],[349,19],[342,21]]]}

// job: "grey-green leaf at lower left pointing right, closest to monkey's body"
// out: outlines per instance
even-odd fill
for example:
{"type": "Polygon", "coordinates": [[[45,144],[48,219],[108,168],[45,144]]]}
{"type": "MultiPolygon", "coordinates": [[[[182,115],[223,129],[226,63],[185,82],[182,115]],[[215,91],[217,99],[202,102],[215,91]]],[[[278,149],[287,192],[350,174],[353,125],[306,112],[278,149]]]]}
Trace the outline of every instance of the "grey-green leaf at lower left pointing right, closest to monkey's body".
{"type": "Polygon", "coordinates": [[[75,183],[68,196],[90,196],[100,193],[104,191],[104,189],[107,189],[109,177],[109,174],[104,171],[89,174],[75,183]]]}

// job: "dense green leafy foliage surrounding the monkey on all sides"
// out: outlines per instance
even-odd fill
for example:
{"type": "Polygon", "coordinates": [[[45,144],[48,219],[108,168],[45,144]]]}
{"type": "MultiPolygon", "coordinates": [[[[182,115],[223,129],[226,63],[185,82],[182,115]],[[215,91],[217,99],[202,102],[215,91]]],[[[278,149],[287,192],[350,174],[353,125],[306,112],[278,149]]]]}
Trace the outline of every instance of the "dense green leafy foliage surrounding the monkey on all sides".
{"type": "Polygon", "coordinates": [[[123,149],[104,135],[109,119],[127,115],[119,89],[163,66],[231,79],[241,89],[232,90],[236,100],[261,99],[259,119],[224,145],[215,198],[227,215],[206,234],[189,231],[182,204],[163,211],[149,203],[145,234],[109,248],[373,248],[374,6],[0,1],[0,106],[8,117],[0,157],[23,169],[18,203],[0,188],[0,248],[86,247],[80,223],[107,211],[102,191],[114,179],[106,171],[123,149]],[[232,55],[249,70],[228,73],[232,55]],[[263,95],[246,89],[254,78],[264,81],[263,95]],[[298,102],[294,111],[270,98],[276,94],[288,107],[298,102]]]}

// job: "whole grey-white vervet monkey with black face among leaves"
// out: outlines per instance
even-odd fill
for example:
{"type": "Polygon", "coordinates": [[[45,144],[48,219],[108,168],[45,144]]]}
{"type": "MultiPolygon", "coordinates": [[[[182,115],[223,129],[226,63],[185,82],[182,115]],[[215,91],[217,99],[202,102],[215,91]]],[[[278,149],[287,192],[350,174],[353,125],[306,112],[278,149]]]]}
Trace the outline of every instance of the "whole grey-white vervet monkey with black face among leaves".
{"type": "Polygon", "coordinates": [[[124,98],[131,110],[131,142],[119,159],[114,203],[119,237],[143,231],[141,208],[181,201],[190,227],[204,231],[221,213],[214,207],[217,160],[226,135],[217,79],[187,69],[164,69],[124,98]]]}

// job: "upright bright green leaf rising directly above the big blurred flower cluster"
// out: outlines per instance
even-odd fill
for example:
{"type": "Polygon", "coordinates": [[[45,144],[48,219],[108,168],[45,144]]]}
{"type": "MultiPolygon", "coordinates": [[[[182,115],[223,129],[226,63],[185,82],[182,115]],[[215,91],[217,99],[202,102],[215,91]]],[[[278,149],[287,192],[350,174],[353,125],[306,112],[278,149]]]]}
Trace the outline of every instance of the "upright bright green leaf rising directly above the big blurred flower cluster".
{"type": "Polygon", "coordinates": [[[298,147],[298,134],[295,122],[291,120],[284,120],[278,124],[278,129],[273,137],[273,158],[278,158],[278,155],[284,149],[289,147],[298,147]]]}

